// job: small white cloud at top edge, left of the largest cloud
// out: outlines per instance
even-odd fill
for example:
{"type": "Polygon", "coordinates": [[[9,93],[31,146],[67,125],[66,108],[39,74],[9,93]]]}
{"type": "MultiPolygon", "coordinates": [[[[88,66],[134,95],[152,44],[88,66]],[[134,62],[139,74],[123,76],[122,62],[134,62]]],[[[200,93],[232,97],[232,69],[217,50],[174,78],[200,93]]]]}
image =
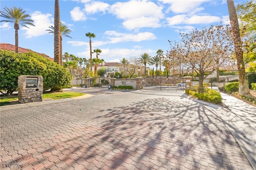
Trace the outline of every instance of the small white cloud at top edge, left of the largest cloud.
{"type": "Polygon", "coordinates": [[[104,2],[94,1],[91,4],[86,4],[84,11],[87,14],[95,14],[97,12],[103,12],[105,14],[106,10],[109,8],[109,4],[104,2]]]}

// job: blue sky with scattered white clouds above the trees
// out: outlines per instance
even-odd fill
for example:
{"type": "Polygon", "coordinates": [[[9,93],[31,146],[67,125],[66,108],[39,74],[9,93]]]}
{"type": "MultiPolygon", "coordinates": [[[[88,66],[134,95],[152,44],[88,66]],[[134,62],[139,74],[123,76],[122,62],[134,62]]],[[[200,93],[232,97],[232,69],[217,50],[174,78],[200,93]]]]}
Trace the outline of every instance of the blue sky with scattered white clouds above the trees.
{"type": "MultiPolygon", "coordinates": [[[[234,0],[235,5],[245,0],[234,0]]],[[[180,32],[189,33],[211,25],[229,24],[226,0],[59,0],[60,21],[70,30],[62,40],[62,53],[90,58],[89,38],[94,33],[92,50],[101,49],[99,58],[119,62],[143,53],[164,54],[170,41],[179,41],[180,32]]],[[[35,26],[18,30],[19,47],[54,57],[54,0],[1,0],[4,7],[22,8],[35,26]]],[[[4,20],[5,18],[0,18],[4,20]]],[[[15,45],[14,24],[0,22],[0,42],[15,45]]],[[[92,54],[93,58],[96,54],[92,54]]]]}

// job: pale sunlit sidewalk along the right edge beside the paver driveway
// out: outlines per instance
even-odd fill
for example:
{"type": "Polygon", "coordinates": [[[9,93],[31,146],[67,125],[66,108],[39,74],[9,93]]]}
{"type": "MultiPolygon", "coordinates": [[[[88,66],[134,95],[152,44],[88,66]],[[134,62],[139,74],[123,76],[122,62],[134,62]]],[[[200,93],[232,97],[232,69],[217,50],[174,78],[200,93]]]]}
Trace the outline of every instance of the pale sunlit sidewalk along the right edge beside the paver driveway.
{"type": "Polygon", "coordinates": [[[256,169],[256,107],[228,94],[220,94],[228,109],[220,107],[218,113],[256,169]]]}

